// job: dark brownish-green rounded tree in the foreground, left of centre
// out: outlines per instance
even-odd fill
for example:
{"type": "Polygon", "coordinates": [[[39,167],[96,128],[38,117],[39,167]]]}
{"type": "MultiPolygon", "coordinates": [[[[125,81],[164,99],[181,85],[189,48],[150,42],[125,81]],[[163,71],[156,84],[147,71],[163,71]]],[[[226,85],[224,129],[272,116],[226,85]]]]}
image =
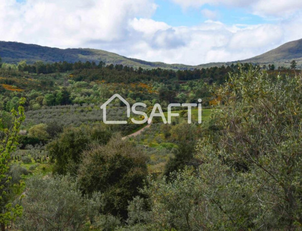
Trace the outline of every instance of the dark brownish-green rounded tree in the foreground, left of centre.
{"type": "Polygon", "coordinates": [[[84,156],[78,175],[84,193],[101,192],[101,212],[127,218],[128,201],[140,195],[138,188],[147,176],[142,151],[115,137],[107,145],[86,151],[84,156]]]}

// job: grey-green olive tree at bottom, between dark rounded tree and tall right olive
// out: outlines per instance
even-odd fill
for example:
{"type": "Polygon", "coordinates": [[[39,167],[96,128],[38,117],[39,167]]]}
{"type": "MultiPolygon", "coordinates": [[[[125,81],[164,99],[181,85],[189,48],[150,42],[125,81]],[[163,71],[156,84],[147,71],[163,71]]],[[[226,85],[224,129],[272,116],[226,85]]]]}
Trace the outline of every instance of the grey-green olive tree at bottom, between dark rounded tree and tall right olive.
{"type": "MultiPolygon", "coordinates": [[[[208,153],[209,154],[209,153],[208,153]]],[[[257,207],[254,200],[241,203],[250,196],[249,187],[238,188],[239,177],[230,176],[230,168],[214,155],[196,171],[185,169],[161,180],[149,179],[141,191],[147,199],[130,202],[130,223],[144,224],[141,230],[219,230],[248,229],[257,207]],[[145,207],[150,205],[150,209],[145,207]],[[132,221],[132,222],[131,222],[132,221]],[[134,220],[135,221],[135,220],[134,220]],[[148,227],[148,229],[146,229],[148,227]]],[[[249,182],[241,183],[242,186],[249,182]],[[243,184],[244,183],[244,184],[243,184]]]]}

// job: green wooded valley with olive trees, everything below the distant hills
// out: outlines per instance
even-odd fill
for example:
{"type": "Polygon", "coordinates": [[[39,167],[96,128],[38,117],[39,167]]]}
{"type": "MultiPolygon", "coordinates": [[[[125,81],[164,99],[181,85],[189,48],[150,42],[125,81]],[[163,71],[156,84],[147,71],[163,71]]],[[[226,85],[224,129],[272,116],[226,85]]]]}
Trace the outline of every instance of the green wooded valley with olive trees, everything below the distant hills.
{"type": "MultiPolygon", "coordinates": [[[[0,68],[2,230],[298,230],[302,77],[250,64],[195,70],[94,62],[0,68]],[[202,99],[203,122],[144,125],[130,105],[202,99]]],[[[166,112],[165,112],[166,113],[166,112]]],[[[165,114],[164,113],[164,114],[165,114]]],[[[166,114],[165,114],[166,115],[166,114]]],[[[142,119],[142,118],[141,118],[142,119]]]]}

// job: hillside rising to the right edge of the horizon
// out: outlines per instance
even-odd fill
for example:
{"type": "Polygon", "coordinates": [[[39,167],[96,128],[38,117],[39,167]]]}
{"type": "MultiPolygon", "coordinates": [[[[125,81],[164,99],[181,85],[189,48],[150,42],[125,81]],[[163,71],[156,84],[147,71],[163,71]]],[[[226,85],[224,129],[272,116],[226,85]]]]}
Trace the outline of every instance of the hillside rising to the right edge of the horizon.
{"type": "Polygon", "coordinates": [[[289,66],[295,60],[299,67],[302,67],[302,39],[285,43],[273,50],[241,62],[251,62],[259,64],[272,64],[275,66],[289,66]]]}

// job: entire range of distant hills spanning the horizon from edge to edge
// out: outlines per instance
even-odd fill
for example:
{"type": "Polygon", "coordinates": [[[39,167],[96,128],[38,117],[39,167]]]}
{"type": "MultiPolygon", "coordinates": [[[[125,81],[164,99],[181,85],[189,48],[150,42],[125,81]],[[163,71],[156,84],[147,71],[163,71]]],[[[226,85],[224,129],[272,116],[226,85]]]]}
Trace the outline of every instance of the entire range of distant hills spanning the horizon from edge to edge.
{"type": "Polygon", "coordinates": [[[302,39],[288,42],[276,49],[268,51],[262,55],[255,56],[246,60],[232,62],[217,62],[190,66],[184,64],[166,64],[163,62],[148,62],[140,59],[127,58],[112,52],[89,49],[89,48],[68,48],[59,49],[51,47],[43,47],[34,44],[24,44],[18,42],[3,42],[0,41],[0,57],[7,63],[18,63],[26,60],[28,63],[41,60],[43,62],[77,62],[77,61],[95,61],[96,63],[103,61],[106,64],[122,64],[135,68],[168,68],[175,70],[194,69],[221,65],[231,65],[237,62],[248,62],[255,64],[275,64],[278,66],[288,67],[289,63],[294,59],[298,63],[298,67],[302,68],[302,39]]]}

